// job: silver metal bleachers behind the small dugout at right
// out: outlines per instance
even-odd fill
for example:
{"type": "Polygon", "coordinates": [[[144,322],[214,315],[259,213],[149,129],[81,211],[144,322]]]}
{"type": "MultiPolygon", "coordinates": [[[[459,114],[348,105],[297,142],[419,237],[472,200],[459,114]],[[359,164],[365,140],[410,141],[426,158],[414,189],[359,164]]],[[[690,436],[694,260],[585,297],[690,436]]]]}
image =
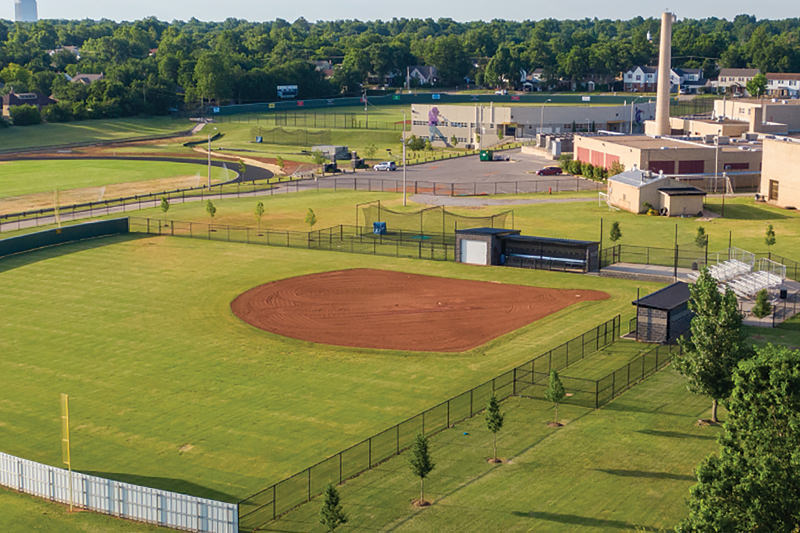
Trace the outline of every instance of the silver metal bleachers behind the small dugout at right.
{"type": "MultiPolygon", "coordinates": [[[[786,279],[786,266],[769,259],[756,261],[755,255],[738,248],[709,256],[716,259],[708,271],[720,284],[720,291],[730,288],[736,296],[752,299],[762,290],[773,289],[786,279]]],[[[691,281],[697,281],[699,272],[689,274],[691,281]]]]}

